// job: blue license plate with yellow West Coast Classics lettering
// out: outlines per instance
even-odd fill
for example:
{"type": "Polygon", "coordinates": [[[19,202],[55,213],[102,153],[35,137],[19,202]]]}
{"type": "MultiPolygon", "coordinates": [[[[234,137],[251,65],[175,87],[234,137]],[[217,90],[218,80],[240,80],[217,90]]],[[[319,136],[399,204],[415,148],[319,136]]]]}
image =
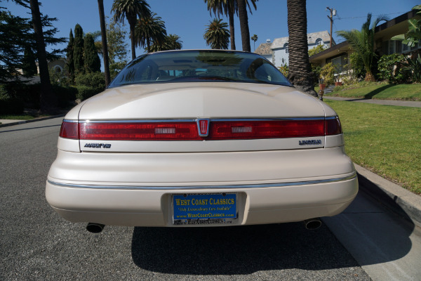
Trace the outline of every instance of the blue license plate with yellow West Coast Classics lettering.
{"type": "Polygon", "coordinates": [[[227,224],[237,218],[236,193],[173,195],[173,224],[227,224]]]}

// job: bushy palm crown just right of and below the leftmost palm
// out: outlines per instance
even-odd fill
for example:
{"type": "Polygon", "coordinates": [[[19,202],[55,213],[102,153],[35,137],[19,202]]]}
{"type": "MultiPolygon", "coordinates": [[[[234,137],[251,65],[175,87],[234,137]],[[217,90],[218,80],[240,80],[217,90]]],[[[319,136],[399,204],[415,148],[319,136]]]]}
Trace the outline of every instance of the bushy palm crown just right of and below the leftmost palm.
{"type": "Polygon", "coordinates": [[[151,42],[163,44],[166,39],[165,22],[161,17],[156,16],[156,13],[142,17],[135,26],[135,37],[136,46],[146,47],[146,51],[149,53],[151,42]]]}

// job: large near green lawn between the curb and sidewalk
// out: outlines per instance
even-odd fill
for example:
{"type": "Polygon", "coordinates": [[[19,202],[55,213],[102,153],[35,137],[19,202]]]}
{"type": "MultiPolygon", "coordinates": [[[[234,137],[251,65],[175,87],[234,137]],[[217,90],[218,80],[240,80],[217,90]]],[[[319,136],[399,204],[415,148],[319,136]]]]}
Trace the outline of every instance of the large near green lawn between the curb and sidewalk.
{"type": "Polygon", "coordinates": [[[421,195],[421,108],[325,100],[356,164],[421,195]]]}

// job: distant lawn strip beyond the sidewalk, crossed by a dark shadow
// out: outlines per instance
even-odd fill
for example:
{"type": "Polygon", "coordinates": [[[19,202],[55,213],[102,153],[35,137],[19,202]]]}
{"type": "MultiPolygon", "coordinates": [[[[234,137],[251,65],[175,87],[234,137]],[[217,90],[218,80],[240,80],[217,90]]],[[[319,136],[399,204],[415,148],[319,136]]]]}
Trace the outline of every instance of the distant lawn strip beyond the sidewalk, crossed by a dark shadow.
{"type": "Polygon", "coordinates": [[[421,84],[367,83],[335,87],[326,96],[345,98],[374,98],[379,100],[421,100],[421,84]]]}

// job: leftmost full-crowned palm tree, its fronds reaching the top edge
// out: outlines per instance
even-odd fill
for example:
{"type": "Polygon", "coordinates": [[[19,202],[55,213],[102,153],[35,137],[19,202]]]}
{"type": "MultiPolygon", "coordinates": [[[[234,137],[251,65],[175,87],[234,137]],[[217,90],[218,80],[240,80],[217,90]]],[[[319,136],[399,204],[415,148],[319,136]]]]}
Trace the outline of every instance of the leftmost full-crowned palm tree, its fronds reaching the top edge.
{"type": "Polygon", "coordinates": [[[111,11],[114,12],[116,22],[124,22],[127,18],[130,26],[130,39],[132,60],[136,58],[135,51],[135,25],[138,18],[147,17],[151,14],[149,4],[145,0],[114,0],[111,11]]]}

